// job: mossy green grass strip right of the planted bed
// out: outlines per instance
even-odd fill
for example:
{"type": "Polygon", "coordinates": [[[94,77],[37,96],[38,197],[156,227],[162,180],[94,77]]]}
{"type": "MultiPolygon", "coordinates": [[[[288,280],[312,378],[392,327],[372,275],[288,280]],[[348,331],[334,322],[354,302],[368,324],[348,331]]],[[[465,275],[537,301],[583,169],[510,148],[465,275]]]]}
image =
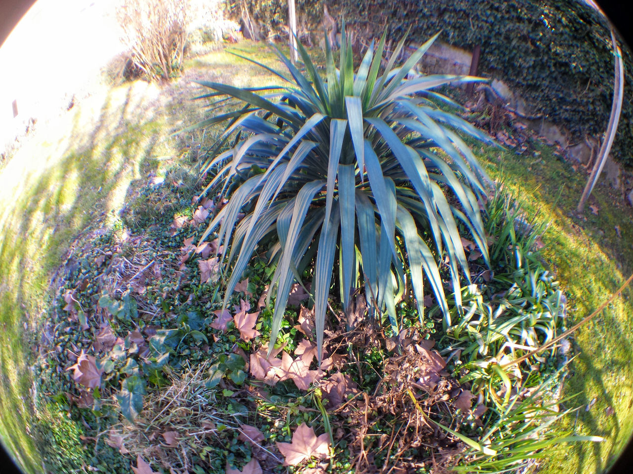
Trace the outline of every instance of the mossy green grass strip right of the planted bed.
{"type": "MultiPolygon", "coordinates": [[[[543,252],[567,293],[565,325],[570,327],[596,310],[633,272],[633,212],[622,194],[602,179],[585,212],[578,215],[587,174],[573,171],[548,147],[539,148],[539,156],[489,149],[486,166],[523,203],[531,221],[550,222],[542,237],[543,252]]],[[[581,408],[563,418],[558,428],[599,435],[605,441],[567,444],[539,472],[603,472],[629,441],[633,432],[632,295],[633,288],[625,289],[572,336],[577,356],[563,395],[578,394],[565,408],[581,408]],[[595,403],[586,411],[593,399],[595,403]]]]}

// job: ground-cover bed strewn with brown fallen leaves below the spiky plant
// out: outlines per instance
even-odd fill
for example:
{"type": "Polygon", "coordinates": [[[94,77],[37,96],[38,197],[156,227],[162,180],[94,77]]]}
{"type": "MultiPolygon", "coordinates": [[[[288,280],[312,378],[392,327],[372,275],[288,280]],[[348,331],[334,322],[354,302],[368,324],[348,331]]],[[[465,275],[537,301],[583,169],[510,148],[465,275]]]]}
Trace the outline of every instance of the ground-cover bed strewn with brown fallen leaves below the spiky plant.
{"type": "Polygon", "coordinates": [[[430,297],[421,323],[403,295],[398,334],[367,320],[363,295],[348,315],[332,297],[319,364],[313,303],[297,284],[267,356],[265,249],[222,311],[222,249],[199,239],[226,200],[155,181],[118,226],[78,239],[54,281],[39,394],[84,444],[81,465],[63,471],[486,471],[524,466],[539,453],[529,443],[553,439],[543,433],[567,413],[556,399],[567,359],[549,351],[498,370],[553,337],[564,312],[538,229],[515,229],[511,200],[487,205],[492,269],[463,240],[473,285],[453,327],[430,297]]]}

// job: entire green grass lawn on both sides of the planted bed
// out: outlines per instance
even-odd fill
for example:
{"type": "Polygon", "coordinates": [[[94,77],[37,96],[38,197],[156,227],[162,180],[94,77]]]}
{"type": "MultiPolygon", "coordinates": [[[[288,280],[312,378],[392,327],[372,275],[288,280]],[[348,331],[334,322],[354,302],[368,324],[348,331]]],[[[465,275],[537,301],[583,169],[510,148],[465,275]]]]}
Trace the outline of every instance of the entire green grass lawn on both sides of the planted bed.
{"type": "MultiPolygon", "coordinates": [[[[275,61],[261,45],[237,45],[247,56],[266,64],[275,61]]],[[[189,59],[185,75],[227,82],[239,87],[279,83],[279,79],[225,51],[189,59]]],[[[28,354],[40,337],[51,301],[54,270],[73,251],[73,240],[89,227],[111,225],[125,203],[130,183],[148,173],[163,173],[178,162],[199,135],[169,137],[199,118],[199,104],[189,102],[193,85],[177,83],[173,94],[158,100],[156,86],[132,83],[113,87],[102,96],[77,104],[56,130],[37,135],[0,170],[0,435],[27,473],[39,473],[35,423],[74,437],[72,424],[60,423],[46,407],[34,403],[28,354]],[[35,140],[37,138],[37,140],[35,140]],[[189,141],[189,142],[188,142],[189,141]],[[163,159],[167,159],[163,161],[163,159]],[[25,327],[32,331],[25,331],[25,327]],[[34,336],[25,336],[34,334],[34,336]]],[[[211,134],[212,135],[212,134],[211,134]]],[[[207,137],[210,140],[210,137],[207,137]]],[[[567,290],[567,326],[597,308],[633,271],[633,218],[620,195],[598,186],[586,211],[575,216],[586,174],[575,173],[548,147],[541,155],[517,156],[484,150],[494,178],[537,214],[551,222],[544,251],[567,290]],[[621,237],[615,226],[619,226],[621,237]]],[[[576,434],[601,435],[605,442],[565,446],[543,466],[547,473],[600,472],[609,466],[633,430],[633,336],[630,331],[631,290],[624,291],[599,317],[573,336],[577,358],[565,394],[579,394],[570,406],[582,405],[560,428],[576,434]],[[585,411],[592,399],[596,403],[585,411]],[[608,415],[610,407],[613,414],[608,415]],[[564,457],[563,457],[564,456],[564,457]]],[[[75,446],[75,445],[73,445],[75,446]]]]}

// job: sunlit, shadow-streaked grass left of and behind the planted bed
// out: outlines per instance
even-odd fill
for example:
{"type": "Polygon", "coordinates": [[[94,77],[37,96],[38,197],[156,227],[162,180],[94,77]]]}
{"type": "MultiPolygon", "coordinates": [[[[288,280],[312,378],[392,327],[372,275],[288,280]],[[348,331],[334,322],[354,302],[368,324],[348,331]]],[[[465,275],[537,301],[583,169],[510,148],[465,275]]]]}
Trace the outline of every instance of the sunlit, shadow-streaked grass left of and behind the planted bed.
{"type": "MultiPolygon", "coordinates": [[[[257,44],[239,47],[275,63],[257,44]]],[[[190,61],[191,67],[195,78],[240,87],[273,82],[225,51],[190,61]]],[[[168,86],[168,94],[161,87],[137,81],[94,94],[54,125],[40,126],[0,169],[0,439],[25,473],[45,471],[32,428],[60,424],[54,419],[60,414],[37,403],[31,367],[55,269],[80,234],[116,223],[130,183],[164,173],[199,138],[170,134],[201,119],[203,104],[191,101],[201,90],[185,81],[168,86]]]]}

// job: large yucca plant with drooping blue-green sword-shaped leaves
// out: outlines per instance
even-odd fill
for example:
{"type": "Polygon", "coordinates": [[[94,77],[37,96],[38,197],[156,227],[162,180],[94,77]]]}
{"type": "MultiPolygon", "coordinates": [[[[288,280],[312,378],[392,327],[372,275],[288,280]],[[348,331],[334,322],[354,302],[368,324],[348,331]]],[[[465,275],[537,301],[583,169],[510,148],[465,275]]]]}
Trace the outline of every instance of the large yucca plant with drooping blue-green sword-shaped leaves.
{"type": "Polygon", "coordinates": [[[268,292],[268,302],[275,296],[272,348],[291,285],[303,284],[301,273],[313,264],[319,356],[335,261],[343,308],[349,308],[354,291],[364,289],[370,312],[388,315],[395,331],[394,296],[407,288],[408,280],[421,319],[424,274],[445,318],[450,313],[442,274],[450,274],[460,306],[460,268],[469,283],[470,274],[456,221],[469,229],[488,261],[477,200],[489,179],[458,132],[492,142],[438,107],[439,100],[457,104],[431,91],[482,79],[423,75],[406,80],[437,35],[395,68],[401,40],[381,71],[383,35],[377,49],[372,42],[354,73],[344,25],[342,31],[339,68],[328,44],[325,78],[298,44],[303,72],[276,48],[288,73],[257,63],[287,85],[254,89],[199,82],[214,91],[200,99],[223,97],[210,104],[212,110],[235,99],[242,104],[196,125],[229,120],[218,149],[235,136],[234,145],[202,169],[216,171],[208,188],[223,185],[224,193],[238,184],[205,234],[220,226],[220,243],[227,244],[230,277],[224,304],[258,245],[268,242],[277,264],[268,292]],[[241,221],[239,212],[246,214],[241,221]],[[437,262],[445,257],[449,270],[442,272],[437,262]]]}

